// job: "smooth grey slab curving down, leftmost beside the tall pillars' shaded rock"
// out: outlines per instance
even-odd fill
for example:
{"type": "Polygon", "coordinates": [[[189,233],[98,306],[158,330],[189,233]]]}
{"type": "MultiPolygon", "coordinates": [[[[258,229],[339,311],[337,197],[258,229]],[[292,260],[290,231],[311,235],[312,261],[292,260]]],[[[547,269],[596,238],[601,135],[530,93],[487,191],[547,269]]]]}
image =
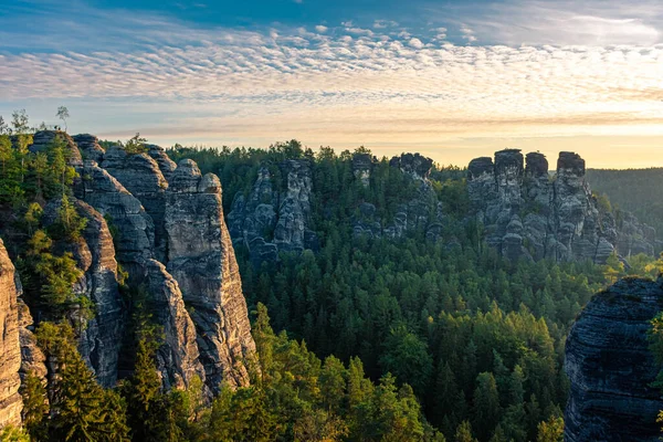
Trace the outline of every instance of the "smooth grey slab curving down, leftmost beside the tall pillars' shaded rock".
{"type": "Polygon", "coordinates": [[[117,261],[131,277],[141,277],[145,263],[154,257],[154,223],[140,201],[94,161],[77,168],[81,179],[74,188],[76,198],[107,215],[117,229],[117,261]]]}

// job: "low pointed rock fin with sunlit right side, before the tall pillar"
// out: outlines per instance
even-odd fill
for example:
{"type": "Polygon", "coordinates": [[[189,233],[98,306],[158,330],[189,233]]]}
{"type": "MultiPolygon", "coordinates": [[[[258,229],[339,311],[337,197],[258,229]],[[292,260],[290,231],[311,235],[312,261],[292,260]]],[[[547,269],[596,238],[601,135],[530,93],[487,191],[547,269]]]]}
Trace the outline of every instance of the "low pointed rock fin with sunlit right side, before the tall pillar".
{"type": "Polygon", "coordinates": [[[147,281],[152,319],[164,333],[164,343],[157,351],[157,368],[164,387],[185,388],[194,376],[204,381],[204,369],[198,359],[196,327],[185,308],[177,281],[156,260],[147,262],[147,281]]]}

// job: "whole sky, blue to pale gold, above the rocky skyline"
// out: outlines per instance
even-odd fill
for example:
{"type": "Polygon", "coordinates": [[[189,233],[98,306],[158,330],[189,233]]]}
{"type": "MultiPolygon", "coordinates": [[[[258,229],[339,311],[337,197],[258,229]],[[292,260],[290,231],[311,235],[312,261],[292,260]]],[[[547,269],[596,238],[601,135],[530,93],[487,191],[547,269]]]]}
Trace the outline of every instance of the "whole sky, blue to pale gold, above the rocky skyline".
{"type": "Polygon", "coordinates": [[[663,166],[660,0],[0,0],[0,115],[171,146],[663,166]]]}

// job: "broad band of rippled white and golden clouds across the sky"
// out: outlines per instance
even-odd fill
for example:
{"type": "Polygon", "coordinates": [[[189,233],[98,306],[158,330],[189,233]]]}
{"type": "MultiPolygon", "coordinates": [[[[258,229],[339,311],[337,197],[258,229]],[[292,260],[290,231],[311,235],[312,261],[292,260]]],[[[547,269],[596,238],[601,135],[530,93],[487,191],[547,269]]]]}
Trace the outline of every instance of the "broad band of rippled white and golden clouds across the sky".
{"type": "MultiPolygon", "coordinates": [[[[92,30],[62,32],[75,36],[92,30]]],[[[158,120],[130,130],[169,139],[221,134],[274,140],[287,133],[328,143],[433,143],[663,135],[663,45],[657,43],[443,41],[449,33],[483,41],[478,21],[423,31],[389,21],[372,22],[372,30],[351,22],[197,30],[135,17],[112,32],[140,44],[0,52],[0,105],[77,98],[125,104],[124,112],[137,116],[158,109],[158,120]]]]}

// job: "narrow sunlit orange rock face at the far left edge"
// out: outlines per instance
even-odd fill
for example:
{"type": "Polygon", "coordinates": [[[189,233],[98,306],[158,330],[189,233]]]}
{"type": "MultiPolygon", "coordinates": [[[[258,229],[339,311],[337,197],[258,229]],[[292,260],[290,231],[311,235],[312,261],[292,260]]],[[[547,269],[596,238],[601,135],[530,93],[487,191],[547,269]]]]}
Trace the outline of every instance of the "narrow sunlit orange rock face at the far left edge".
{"type": "Polygon", "coordinates": [[[0,240],[0,428],[21,423],[21,346],[14,266],[0,240]]]}

